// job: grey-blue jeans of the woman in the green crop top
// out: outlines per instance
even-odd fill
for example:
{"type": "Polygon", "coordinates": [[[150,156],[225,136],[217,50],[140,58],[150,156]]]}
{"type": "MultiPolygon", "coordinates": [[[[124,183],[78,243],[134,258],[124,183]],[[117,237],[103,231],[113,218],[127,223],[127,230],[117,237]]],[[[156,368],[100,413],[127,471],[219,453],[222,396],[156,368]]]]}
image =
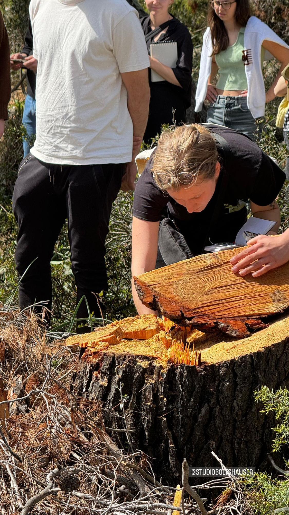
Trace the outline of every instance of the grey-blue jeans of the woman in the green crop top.
{"type": "Polygon", "coordinates": [[[261,138],[262,124],[257,124],[253,118],[246,97],[218,95],[216,101],[209,106],[207,123],[238,130],[255,142],[261,138]]]}

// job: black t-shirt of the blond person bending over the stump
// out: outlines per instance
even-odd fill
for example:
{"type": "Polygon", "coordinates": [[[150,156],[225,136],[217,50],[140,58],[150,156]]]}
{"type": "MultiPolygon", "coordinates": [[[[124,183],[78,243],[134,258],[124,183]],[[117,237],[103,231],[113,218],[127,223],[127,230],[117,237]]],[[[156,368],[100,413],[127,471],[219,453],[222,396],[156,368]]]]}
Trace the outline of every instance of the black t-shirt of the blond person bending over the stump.
{"type": "Polygon", "coordinates": [[[224,156],[220,144],[216,143],[220,163],[224,162],[225,170],[222,166],[215,193],[202,212],[188,213],[184,206],[159,190],[150,171],[153,158],[137,181],[134,195],[133,215],[141,220],[156,222],[168,216],[169,212],[169,217],[175,220],[194,255],[202,252],[206,235],[211,243],[234,242],[246,221],[246,202],[251,200],[260,206],[269,205],[277,197],[285,180],[281,168],[245,135],[226,127],[208,128],[223,136],[231,148],[231,155],[226,152],[224,156]],[[227,181],[222,205],[218,219],[212,220],[224,171],[227,181]]]}

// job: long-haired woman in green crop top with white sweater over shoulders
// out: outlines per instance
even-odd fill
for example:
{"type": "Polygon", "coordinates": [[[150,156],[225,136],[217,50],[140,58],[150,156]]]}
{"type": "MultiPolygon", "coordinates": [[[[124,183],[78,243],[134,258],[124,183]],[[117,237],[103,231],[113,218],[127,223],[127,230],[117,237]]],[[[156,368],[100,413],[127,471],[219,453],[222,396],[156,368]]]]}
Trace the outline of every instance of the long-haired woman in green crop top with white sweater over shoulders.
{"type": "Polygon", "coordinates": [[[210,102],[208,123],[225,125],[258,141],[261,131],[258,134],[256,121],[264,117],[265,104],[275,98],[275,85],[288,62],[288,45],[250,15],[249,0],[213,0],[203,39],[195,111],[201,111],[206,99],[210,102]],[[281,66],[265,91],[263,61],[272,57],[281,66]]]}

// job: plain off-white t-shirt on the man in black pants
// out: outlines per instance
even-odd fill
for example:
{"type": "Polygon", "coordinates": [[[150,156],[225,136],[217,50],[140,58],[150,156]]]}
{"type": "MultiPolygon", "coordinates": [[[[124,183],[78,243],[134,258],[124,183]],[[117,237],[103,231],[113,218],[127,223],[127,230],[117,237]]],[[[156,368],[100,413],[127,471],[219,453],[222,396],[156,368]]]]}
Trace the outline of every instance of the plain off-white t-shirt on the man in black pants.
{"type": "Polygon", "coordinates": [[[126,0],[31,0],[38,59],[37,138],[45,163],[125,163],[133,124],[120,73],[149,67],[138,13],[126,0]]]}

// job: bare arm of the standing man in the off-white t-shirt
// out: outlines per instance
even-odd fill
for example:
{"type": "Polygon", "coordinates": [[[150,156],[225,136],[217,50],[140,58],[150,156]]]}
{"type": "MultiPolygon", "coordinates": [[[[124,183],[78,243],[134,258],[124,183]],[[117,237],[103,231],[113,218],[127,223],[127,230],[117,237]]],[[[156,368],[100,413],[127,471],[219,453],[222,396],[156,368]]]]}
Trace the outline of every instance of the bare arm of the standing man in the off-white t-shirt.
{"type": "Polygon", "coordinates": [[[127,165],[127,171],[122,179],[122,190],[129,191],[135,188],[136,165],[135,157],[138,155],[143,134],[145,133],[150,104],[150,87],[148,68],[137,72],[121,74],[122,81],[128,92],[128,109],[133,122],[133,156],[127,165]]]}

